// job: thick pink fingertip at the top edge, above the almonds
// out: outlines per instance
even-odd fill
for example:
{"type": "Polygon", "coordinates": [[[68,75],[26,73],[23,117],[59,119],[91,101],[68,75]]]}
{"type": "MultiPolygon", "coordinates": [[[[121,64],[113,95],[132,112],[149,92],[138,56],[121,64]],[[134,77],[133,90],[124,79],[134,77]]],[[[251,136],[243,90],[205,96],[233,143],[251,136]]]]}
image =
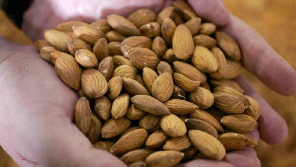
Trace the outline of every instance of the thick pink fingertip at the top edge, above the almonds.
{"type": "Polygon", "coordinates": [[[229,22],[229,13],[221,0],[188,0],[188,3],[199,17],[217,26],[225,26],[229,22]]]}

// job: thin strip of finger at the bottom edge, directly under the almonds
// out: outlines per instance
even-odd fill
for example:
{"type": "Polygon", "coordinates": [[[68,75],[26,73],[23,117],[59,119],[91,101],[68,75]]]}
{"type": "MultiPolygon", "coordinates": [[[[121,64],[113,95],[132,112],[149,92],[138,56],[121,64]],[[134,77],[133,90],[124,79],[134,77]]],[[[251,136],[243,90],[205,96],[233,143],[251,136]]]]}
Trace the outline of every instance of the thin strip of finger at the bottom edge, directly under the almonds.
{"type": "Polygon", "coordinates": [[[176,167],[233,167],[233,166],[223,161],[198,159],[198,160],[190,161],[185,164],[180,164],[176,167]]]}

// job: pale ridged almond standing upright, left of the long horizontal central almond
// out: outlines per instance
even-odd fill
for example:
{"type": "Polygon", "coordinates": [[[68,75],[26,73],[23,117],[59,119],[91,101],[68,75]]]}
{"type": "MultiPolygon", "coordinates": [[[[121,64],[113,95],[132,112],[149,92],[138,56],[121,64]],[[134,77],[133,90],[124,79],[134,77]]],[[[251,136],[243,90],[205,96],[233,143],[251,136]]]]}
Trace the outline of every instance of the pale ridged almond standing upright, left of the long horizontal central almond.
{"type": "Polygon", "coordinates": [[[114,119],[122,118],[129,105],[129,95],[124,93],[116,97],[112,104],[111,115],[114,119]]]}

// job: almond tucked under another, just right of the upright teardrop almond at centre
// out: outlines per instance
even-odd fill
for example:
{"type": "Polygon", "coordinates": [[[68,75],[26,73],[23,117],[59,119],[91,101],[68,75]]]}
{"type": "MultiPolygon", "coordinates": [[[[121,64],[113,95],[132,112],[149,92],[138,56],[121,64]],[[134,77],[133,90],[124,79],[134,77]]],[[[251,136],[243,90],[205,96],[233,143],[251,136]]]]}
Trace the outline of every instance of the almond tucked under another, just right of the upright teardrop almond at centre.
{"type": "Polygon", "coordinates": [[[180,73],[174,73],[175,83],[187,92],[194,92],[197,90],[200,82],[193,81],[180,73]]]}

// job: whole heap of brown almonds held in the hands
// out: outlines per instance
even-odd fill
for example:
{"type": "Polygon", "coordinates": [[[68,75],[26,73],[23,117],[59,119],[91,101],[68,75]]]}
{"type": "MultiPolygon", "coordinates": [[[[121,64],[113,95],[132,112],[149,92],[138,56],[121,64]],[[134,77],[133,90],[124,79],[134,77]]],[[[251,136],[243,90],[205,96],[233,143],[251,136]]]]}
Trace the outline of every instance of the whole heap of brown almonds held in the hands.
{"type": "Polygon", "coordinates": [[[257,143],[258,102],[235,82],[240,49],[184,1],[44,32],[41,57],[77,90],[75,124],[130,167],[171,167],[257,143]]]}

